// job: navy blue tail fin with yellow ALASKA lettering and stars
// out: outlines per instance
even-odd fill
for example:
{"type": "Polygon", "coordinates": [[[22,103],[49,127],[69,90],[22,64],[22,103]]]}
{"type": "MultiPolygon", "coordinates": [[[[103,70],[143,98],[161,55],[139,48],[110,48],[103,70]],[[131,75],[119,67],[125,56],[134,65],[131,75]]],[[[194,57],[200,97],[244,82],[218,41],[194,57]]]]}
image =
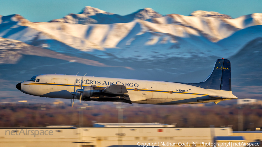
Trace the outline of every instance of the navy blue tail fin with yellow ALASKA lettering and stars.
{"type": "Polygon", "coordinates": [[[231,67],[227,59],[218,59],[208,78],[200,83],[183,83],[205,89],[231,91],[231,67]]]}

